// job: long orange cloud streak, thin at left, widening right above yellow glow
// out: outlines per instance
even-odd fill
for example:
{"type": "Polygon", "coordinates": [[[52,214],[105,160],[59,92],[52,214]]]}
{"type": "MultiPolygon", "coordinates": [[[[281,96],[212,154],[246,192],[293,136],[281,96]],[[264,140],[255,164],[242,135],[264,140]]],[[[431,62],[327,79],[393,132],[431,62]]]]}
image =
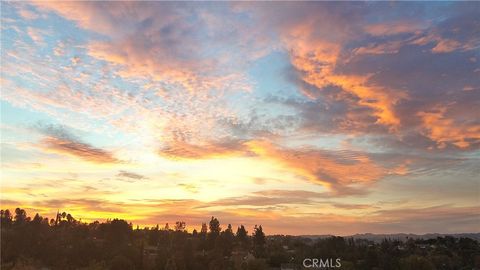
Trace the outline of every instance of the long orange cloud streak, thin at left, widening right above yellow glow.
{"type": "Polygon", "coordinates": [[[177,141],[159,151],[170,159],[212,159],[229,156],[255,156],[275,162],[279,169],[292,171],[313,183],[321,184],[337,194],[362,194],[368,186],[387,175],[405,174],[405,164],[377,163],[367,153],[331,151],[312,147],[286,148],[268,141],[224,139],[195,145],[177,141]]]}

